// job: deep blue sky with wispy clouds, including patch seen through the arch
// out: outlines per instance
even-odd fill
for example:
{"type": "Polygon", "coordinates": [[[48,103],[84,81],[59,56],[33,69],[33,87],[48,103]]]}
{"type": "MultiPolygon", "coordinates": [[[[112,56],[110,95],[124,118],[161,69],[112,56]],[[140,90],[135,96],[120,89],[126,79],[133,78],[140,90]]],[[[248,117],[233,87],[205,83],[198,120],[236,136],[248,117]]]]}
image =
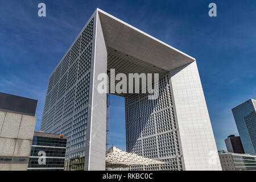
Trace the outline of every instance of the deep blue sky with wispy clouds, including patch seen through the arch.
{"type": "MultiPolygon", "coordinates": [[[[231,109],[256,94],[255,1],[0,2],[0,92],[38,100],[40,127],[48,77],[96,8],[195,57],[218,149],[238,135],[231,109]],[[47,7],[39,18],[38,3],[47,7]],[[217,4],[217,17],[208,5],[217,4]]],[[[112,96],[111,138],[125,149],[125,108],[112,96]]]]}

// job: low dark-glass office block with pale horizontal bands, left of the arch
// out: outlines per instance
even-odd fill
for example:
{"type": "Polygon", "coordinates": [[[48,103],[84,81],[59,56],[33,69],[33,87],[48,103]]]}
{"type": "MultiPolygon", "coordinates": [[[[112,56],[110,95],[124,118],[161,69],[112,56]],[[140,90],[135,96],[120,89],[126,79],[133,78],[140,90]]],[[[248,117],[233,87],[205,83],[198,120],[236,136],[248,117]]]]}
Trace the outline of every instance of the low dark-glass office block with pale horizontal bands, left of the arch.
{"type": "Polygon", "coordinates": [[[63,171],[67,136],[36,131],[27,171],[63,171]]]}

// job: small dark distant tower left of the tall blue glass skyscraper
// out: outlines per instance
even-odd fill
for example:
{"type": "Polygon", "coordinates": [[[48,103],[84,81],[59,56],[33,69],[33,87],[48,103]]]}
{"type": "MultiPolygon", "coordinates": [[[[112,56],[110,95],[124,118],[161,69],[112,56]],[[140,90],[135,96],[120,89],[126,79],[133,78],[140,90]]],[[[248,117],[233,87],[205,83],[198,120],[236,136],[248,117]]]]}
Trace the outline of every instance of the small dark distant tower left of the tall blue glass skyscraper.
{"type": "Polygon", "coordinates": [[[236,154],[245,154],[245,151],[243,151],[243,146],[240,137],[235,137],[235,135],[229,135],[229,137],[225,139],[225,143],[228,152],[236,154]]]}

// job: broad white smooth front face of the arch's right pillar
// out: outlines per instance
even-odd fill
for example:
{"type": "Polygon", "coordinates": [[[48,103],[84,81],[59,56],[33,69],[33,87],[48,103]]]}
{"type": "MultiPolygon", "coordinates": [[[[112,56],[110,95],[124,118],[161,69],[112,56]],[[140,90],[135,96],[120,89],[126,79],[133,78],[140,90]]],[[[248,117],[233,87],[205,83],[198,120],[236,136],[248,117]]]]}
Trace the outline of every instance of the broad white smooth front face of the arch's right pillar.
{"type": "Polygon", "coordinates": [[[184,170],[221,170],[196,61],[170,72],[184,170]]]}

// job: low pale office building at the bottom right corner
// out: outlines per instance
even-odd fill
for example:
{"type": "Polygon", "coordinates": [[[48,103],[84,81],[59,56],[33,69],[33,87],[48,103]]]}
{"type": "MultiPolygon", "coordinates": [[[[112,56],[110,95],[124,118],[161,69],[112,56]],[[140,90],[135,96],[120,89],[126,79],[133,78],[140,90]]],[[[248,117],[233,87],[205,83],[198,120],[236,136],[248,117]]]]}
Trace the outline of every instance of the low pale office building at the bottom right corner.
{"type": "Polygon", "coordinates": [[[255,171],[256,156],[249,154],[219,154],[223,171],[255,171]]]}

